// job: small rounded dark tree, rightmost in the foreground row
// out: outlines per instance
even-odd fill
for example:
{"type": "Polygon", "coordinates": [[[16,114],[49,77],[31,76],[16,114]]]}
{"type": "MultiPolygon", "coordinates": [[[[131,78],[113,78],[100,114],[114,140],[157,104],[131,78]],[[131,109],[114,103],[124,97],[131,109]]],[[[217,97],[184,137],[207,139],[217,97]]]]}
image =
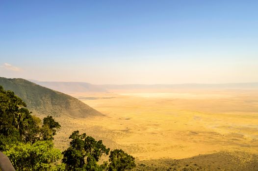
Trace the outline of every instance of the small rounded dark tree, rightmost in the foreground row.
{"type": "Polygon", "coordinates": [[[129,171],[136,166],[134,157],[121,149],[110,151],[109,162],[109,171],[129,171]]]}

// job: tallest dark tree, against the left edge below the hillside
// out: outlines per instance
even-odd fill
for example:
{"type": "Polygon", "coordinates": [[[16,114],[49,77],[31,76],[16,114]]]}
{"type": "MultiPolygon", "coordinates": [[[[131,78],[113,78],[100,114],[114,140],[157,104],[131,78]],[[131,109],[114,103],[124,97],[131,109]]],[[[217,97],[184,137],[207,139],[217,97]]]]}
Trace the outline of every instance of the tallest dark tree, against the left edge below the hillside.
{"type": "Polygon", "coordinates": [[[0,86],[0,135],[34,143],[40,132],[38,120],[31,115],[22,99],[0,86]]]}

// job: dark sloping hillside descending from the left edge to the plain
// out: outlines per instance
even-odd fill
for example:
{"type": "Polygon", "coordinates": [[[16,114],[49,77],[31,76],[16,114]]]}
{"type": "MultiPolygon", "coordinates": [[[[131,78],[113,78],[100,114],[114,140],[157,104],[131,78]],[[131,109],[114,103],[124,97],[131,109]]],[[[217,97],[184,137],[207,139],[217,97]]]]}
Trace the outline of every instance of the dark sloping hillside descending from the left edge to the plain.
{"type": "Polygon", "coordinates": [[[37,115],[88,117],[103,115],[97,110],[67,94],[54,91],[24,79],[0,77],[0,85],[14,91],[26,102],[27,107],[37,115]]]}

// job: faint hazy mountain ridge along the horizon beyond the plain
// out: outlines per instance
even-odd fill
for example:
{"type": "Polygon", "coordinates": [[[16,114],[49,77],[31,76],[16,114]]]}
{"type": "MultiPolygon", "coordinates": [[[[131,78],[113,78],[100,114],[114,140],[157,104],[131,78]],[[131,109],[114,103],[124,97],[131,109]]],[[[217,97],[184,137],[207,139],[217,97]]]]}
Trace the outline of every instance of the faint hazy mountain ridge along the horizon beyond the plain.
{"type": "Polygon", "coordinates": [[[82,82],[40,82],[32,80],[32,82],[46,86],[48,88],[64,92],[110,92],[112,90],[173,90],[173,89],[258,89],[258,83],[227,83],[227,84],[171,84],[171,85],[144,85],[144,84],[128,84],[128,85],[93,85],[82,82]]]}

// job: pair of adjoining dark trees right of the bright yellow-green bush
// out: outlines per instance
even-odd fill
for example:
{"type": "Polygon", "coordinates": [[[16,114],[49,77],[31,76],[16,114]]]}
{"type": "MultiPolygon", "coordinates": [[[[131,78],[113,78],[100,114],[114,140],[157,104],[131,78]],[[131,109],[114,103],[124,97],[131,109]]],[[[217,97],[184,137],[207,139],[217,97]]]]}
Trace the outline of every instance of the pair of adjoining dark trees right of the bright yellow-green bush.
{"type": "Polygon", "coordinates": [[[69,171],[130,171],[136,165],[134,158],[123,150],[112,150],[109,155],[109,164],[104,161],[98,164],[102,155],[108,155],[102,140],[96,141],[85,133],[74,131],[69,137],[72,139],[70,147],[63,152],[63,163],[69,171]]]}

